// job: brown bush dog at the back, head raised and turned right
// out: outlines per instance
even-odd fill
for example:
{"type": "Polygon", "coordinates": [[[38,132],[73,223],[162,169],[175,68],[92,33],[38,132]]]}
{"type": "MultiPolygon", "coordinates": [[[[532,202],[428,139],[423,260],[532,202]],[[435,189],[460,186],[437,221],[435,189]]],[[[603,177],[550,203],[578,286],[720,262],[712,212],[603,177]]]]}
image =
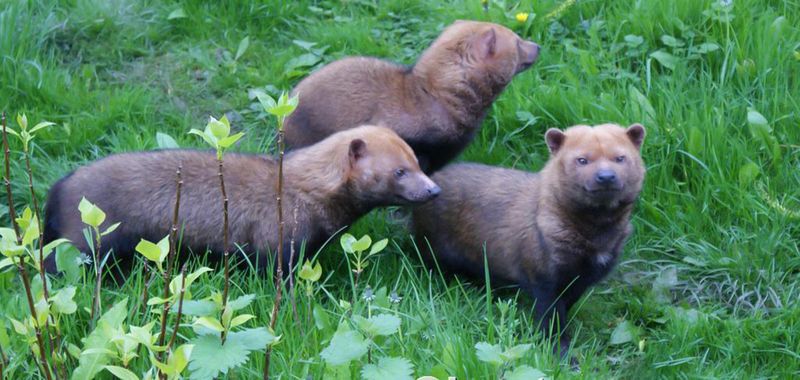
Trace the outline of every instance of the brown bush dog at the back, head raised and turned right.
{"type": "Polygon", "coordinates": [[[508,28],[456,21],[411,67],[341,59],[293,90],[300,103],[286,120],[286,143],[302,147],[356,125],[383,125],[432,173],[472,141],[495,98],[538,57],[538,45],[508,28]]]}

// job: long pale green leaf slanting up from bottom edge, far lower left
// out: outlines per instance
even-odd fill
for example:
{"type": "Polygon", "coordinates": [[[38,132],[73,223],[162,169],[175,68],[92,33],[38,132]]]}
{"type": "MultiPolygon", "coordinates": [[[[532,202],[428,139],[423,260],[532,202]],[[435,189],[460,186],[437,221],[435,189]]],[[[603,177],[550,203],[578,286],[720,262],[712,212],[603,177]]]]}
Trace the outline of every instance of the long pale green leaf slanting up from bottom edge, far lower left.
{"type": "Polygon", "coordinates": [[[111,341],[112,329],[122,325],[128,315],[128,299],[117,302],[111,309],[103,314],[97,321],[97,326],[88,337],[84,339],[83,351],[78,359],[79,365],[72,372],[70,377],[73,380],[91,379],[103,370],[103,367],[110,362],[108,354],[102,352],[85,353],[88,350],[113,349],[114,343],[111,341]]]}

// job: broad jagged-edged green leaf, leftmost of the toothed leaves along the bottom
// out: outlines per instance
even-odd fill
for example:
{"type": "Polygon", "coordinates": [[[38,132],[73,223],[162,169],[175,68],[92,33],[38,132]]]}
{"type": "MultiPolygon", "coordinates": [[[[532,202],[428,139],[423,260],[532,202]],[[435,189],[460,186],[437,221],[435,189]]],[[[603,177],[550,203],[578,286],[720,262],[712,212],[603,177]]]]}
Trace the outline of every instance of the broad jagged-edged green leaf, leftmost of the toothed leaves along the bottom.
{"type": "Polygon", "coordinates": [[[278,338],[265,328],[231,332],[221,344],[219,336],[201,335],[190,343],[194,345],[189,360],[192,379],[211,379],[225,375],[231,368],[240,367],[253,351],[262,351],[278,338]]]}

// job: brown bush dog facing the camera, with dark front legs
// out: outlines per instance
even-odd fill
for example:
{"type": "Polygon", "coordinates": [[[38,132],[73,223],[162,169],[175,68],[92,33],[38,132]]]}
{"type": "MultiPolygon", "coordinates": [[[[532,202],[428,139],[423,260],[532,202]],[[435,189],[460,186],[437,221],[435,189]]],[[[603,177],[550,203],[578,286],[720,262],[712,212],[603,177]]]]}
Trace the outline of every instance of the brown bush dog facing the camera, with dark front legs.
{"type": "MultiPolygon", "coordinates": [[[[631,233],[644,136],[639,124],[550,129],[550,159],[538,173],[448,166],[432,177],[442,195],[413,212],[418,243],[426,238],[443,268],[481,278],[485,244],[492,281],[528,293],[547,334],[611,271],[631,233]]],[[[559,343],[564,356],[567,334],[559,343]]]]}

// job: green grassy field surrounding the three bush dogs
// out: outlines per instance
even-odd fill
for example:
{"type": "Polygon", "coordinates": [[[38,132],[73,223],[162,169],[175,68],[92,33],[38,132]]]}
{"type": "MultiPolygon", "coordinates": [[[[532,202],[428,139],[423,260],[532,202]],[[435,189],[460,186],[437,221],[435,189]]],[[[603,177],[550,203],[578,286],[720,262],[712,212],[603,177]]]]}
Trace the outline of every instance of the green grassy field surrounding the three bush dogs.
{"type": "MultiPolygon", "coordinates": [[[[201,147],[186,132],[210,115],[227,114],[246,133],[236,151],[272,151],[274,120],[251,90],[288,90],[349,55],[413,63],[455,19],[507,25],[538,42],[542,54],[498,99],[462,160],[538,170],[547,128],[642,122],[648,131],[635,233],[614,274],[571,313],[580,371],[538,339],[530,299],[426,271],[403,222],[378,210],[350,231],[390,238],[389,247],[367,267],[355,297],[339,244],[320,255],[322,289],[313,300],[298,293],[299,321],[288,303],[282,309],[272,373],[322,377],[320,352],[348,318],[338,300],[355,298],[353,313],[366,315],[361,294],[369,285],[402,296],[389,307],[401,332],[377,339],[372,355],[408,359],[415,377],[493,378],[522,364],[554,378],[800,376],[800,1],[579,0],[559,9],[562,3],[490,1],[484,11],[478,0],[0,0],[0,109],[14,128],[17,112],[57,123],[31,148],[42,200],[83,163],[156,149],[157,132],[201,147]],[[518,12],[531,13],[526,23],[518,12]],[[249,46],[237,54],[245,38],[249,46]],[[312,302],[328,325],[307,310],[312,302]],[[478,342],[534,345],[498,368],[479,360],[478,342]]],[[[18,209],[29,200],[20,151],[12,143],[18,209]]],[[[10,226],[7,208],[0,213],[10,226]]],[[[221,288],[219,272],[198,280],[195,298],[221,288]]],[[[53,286],[64,281],[54,278],[53,286]]],[[[236,271],[232,284],[234,297],[256,295],[248,323],[266,325],[271,282],[236,271]]],[[[83,308],[91,276],[74,285],[79,310],[60,323],[65,342],[80,346],[89,332],[83,308]]],[[[143,286],[137,274],[104,287],[104,307],[127,296],[133,309],[143,286]]],[[[156,281],[153,294],[161,286],[156,281]]],[[[6,318],[27,313],[21,287],[16,271],[0,274],[9,379],[39,376],[6,318]]],[[[132,311],[126,324],[153,318],[132,311]]],[[[193,334],[186,327],[179,336],[193,334]]],[[[354,362],[352,376],[366,362],[354,362]]],[[[262,366],[256,353],[229,376],[259,377],[262,366]]],[[[137,374],[148,368],[146,360],[131,366],[137,374]]]]}

